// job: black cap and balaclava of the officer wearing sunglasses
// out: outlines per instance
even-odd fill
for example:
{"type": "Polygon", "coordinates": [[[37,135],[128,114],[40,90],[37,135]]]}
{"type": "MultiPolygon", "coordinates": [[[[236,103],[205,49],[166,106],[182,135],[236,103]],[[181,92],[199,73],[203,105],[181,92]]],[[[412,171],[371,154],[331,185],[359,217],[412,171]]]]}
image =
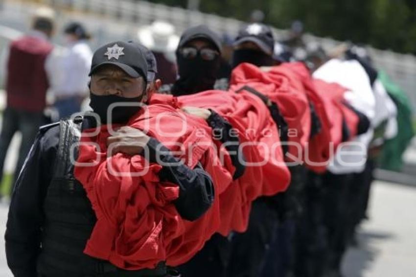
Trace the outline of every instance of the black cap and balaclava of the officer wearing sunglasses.
{"type": "Polygon", "coordinates": [[[186,95],[212,90],[221,63],[221,43],[219,37],[207,26],[199,25],[187,29],[181,36],[176,51],[179,78],[172,87],[173,95],[186,95]],[[185,59],[179,49],[192,40],[207,40],[220,53],[214,60],[203,60],[200,55],[194,59],[185,59]]]}

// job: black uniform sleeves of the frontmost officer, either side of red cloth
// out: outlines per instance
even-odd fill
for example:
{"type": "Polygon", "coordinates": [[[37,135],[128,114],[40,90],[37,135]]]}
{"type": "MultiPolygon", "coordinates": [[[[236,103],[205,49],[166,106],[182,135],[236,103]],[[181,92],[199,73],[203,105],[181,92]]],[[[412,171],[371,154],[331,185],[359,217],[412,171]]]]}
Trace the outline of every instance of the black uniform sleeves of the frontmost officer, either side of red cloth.
{"type": "MultiPolygon", "coordinates": [[[[44,221],[43,203],[54,174],[59,133],[59,124],[41,128],[13,190],[5,241],[7,264],[15,277],[37,276],[36,259],[41,250],[44,221]]],[[[152,160],[156,155],[162,162],[178,161],[166,147],[158,144],[160,142],[154,138],[148,143],[150,162],[154,162],[152,160]]],[[[175,206],[183,218],[195,220],[210,207],[214,196],[212,180],[200,165],[194,169],[183,164],[163,167],[160,178],[179,185],[180,196],[175,206]]]]}

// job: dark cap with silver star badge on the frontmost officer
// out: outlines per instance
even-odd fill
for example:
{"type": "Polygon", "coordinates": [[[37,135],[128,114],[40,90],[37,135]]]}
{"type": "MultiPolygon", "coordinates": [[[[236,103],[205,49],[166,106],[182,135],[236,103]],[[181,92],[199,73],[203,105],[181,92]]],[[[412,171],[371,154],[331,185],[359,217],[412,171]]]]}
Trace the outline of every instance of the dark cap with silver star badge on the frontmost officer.
{"type": "Polygon", "coordinates": [[[112,42],[98,48],[92,56],[89,76],[103,65],[115,65],[129,76],[147,81],[148,66],[143,51],[132,42],[112,42]]]}

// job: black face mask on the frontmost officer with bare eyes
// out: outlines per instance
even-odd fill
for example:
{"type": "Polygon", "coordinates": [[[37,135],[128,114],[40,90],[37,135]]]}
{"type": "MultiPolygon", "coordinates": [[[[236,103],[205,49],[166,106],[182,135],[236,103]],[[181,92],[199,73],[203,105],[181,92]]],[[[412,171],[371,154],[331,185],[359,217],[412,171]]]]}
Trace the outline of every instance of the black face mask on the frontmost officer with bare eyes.
{"type": "MultiPolygon", "coordinates": [[[[143,94],[144,95],[144,94],[143,94]]],[[[90,92],[90,107],[92,111],[96,113],[102,124],[106,123],[125,123],[140,110],[140,106],[116,106],[111,111],[111,122],[108,122],[107,110],[113,103],[127,102],[127,103],[140,103],[143,95],[139,97],[127,98],[117,95],[95,95],[90,92]]]]}

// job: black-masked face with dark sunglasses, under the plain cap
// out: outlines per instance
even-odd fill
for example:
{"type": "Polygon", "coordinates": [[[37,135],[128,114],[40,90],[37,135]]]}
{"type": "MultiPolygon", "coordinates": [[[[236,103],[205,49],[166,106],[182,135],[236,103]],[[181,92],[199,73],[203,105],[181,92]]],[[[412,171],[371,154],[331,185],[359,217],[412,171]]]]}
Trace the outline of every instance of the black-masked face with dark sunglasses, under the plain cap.
{"type": "Polygon", "coordinates": [[[194,41],[177,53],[179,79],[172,93],[191,94],[211,90],[220,68],[220,55],[208,42],[194,41]]]}

